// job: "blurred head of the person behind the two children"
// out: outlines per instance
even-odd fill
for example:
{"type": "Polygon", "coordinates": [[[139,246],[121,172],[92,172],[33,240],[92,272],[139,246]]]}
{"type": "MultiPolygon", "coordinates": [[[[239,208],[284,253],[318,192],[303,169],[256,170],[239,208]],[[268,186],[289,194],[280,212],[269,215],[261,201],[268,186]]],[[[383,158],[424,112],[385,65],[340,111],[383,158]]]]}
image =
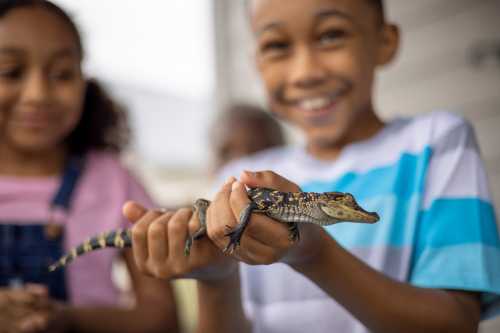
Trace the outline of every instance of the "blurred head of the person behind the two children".
{"type": "Polygon", "coordinates": [[[230,161],[285,144],[280,124],[261,107],[234,104],[215,120],[211,135],[215,171],[230,161]]]}

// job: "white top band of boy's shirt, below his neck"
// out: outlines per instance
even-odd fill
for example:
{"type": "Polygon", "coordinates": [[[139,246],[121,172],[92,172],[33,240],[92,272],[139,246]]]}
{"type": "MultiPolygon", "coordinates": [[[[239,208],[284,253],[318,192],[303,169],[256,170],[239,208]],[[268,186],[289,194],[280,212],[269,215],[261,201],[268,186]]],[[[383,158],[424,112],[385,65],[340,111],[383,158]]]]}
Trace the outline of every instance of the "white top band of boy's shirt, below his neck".
{"type": "Polygon", "coordinates": [[[347,147],[335,161],[319,161],[302,147],[271,149],[228,165],[220,181],[242,170],[273,170],[296,183],[331,181],[347,172],[365,173],[396,163],[401,154],[420,154],[451,129],[464,125],[462,118],[446,112],[434,112],[389,124],[369,141],[347,147]]]}

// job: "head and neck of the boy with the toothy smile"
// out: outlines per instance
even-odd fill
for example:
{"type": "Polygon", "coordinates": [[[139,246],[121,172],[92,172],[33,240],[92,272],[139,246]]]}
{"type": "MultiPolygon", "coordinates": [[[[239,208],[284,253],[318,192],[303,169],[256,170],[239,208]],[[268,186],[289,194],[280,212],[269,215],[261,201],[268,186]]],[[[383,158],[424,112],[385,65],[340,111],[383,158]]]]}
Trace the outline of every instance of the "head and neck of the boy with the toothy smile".
{"type": "Polygon", "coordinates": [[[374,72],[392,59],[397,30],[368,0],[255,0],[251,10],[271,108],[305,132],[311,153],[338,153],[382,127],[374,72]]]}

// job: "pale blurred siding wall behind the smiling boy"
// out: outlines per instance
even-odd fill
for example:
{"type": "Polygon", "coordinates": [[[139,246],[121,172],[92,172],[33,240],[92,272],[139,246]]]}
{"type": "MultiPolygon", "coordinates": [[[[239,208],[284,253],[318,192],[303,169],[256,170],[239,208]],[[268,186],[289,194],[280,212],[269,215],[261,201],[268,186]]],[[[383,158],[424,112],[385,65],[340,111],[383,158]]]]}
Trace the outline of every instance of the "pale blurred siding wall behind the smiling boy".
{"type": "MultiPolygon", "coordinates": [[[[252,63],[252,40],[241,0],[214,0],[218,97],[264,103],[252,63]]],[[[398,60],[377,85],[381,116],[436,108],[459,112],[474,125],[500,207],[500,63],[471,63],[478,44],[500,43],[500,0],[387,0],[388,17],[402,32],[398,60]]],[[[497,51],[498,52],[498,51],[497,51]]],[[[481,332],[499,332],[500,320],[481,332]]]]}

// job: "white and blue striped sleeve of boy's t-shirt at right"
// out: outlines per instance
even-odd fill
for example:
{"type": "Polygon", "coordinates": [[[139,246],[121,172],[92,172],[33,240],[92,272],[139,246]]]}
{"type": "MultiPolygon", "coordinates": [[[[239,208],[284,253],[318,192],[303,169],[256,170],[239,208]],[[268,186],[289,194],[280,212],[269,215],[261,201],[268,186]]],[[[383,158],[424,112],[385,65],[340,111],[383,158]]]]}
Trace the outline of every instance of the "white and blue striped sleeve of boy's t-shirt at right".
{"type": "Polygon", "coordinates": [[[500,314],[500,241],[485,168],[460,120],[431,144],[410,282],[480,293],[483,318],[500,314]]]}

